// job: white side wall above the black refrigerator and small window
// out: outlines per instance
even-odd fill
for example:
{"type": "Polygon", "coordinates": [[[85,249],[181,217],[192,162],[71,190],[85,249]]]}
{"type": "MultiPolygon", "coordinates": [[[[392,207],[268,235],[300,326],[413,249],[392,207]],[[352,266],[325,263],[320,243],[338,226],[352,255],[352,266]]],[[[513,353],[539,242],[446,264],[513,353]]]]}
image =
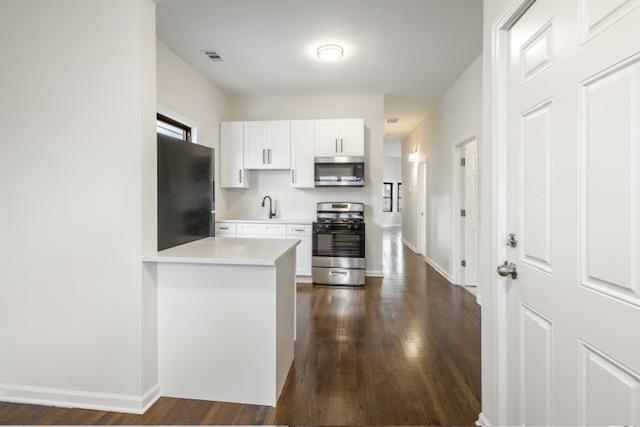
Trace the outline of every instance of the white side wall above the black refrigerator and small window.
{"type": "MultiPolygon", "coordinates": [[[[207,78],[184,62],[162,40],[157,41],[158,104],[194,122],[198,144],[213,147],[220,157],[220,122],[227,115],[229,99],[207,78]]],[[[225,193],[220,191],[220,167],[216,163],[216,212],[226,211],[225,193]]]]}

